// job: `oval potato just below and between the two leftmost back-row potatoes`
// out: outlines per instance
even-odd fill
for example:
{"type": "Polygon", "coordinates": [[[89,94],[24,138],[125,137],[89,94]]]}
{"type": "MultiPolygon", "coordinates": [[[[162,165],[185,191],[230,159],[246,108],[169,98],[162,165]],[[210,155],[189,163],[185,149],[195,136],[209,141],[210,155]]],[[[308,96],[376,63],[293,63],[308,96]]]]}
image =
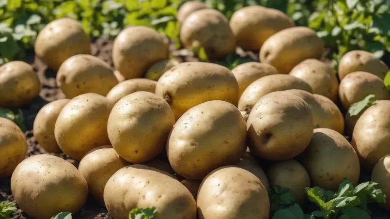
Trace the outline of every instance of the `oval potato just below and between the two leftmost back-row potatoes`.
{"type": "Polygon", "coordinates": [[[57,84],[68,98],[87,93],[105,96],[118,80],[109,64],[92,55],[79,54],[62,63],[57,84]]]}

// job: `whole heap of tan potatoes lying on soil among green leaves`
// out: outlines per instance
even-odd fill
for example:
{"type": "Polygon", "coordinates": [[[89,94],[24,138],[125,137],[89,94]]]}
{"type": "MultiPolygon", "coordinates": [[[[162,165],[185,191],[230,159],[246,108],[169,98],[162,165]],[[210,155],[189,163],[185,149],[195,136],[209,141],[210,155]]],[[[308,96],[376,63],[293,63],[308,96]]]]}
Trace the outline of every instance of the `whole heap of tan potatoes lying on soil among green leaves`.
{"type": "MultiPolygon", "coordinates": [[[[177,18],[184,47],[201,45],[212,60],[237,46],[260,50],[260,63],[179,63],[165,37],[133,26],[115,38],[111,69],[90,55],[75,20],[54,20],[39,33],[36,55],[58,70],[67,99],[39,111],[33,134],[47,152],[80,162],[77,169],[53,155],[23,160],[24,134],[0,119],[0,177],[12,175],[23,211],[36,219],[74,213],[90,194],[115,219],[146,207],[156,207],[156,219],[267,219],[270,187],[290,188],[304,203],[305,187],[337,190],[345,177],[356,184],[360,167],[374,169],[390,197],[386,64],[351,51],[337,77],[320,61],[324,44],[314,31],[261,6],[229,21],[189,1],[177,18]],[[342,111],[369,94],[375,104],[344,119],[342,111]]],[[[26,105],[39,88],[27,63],[0,67],[1,107],[26,105]]]]}

